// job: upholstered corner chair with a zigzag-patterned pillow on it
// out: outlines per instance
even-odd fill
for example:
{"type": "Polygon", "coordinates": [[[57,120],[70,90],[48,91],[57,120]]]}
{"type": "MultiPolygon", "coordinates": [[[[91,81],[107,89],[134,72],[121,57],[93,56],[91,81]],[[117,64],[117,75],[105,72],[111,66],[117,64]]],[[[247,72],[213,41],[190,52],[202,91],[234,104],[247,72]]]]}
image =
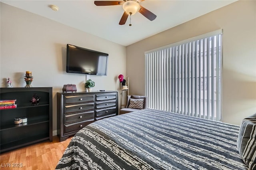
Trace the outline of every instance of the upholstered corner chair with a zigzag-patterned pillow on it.
{"type": "Polygon", "coordinates": [[[147,105],[147,98],[146,96],[138,96],[138,95],[131,95],[127,96],[127,103],[125,108],[120,109],[120,115],[124,113],[134,112],[141,109],[146,109],[147,105]]]}

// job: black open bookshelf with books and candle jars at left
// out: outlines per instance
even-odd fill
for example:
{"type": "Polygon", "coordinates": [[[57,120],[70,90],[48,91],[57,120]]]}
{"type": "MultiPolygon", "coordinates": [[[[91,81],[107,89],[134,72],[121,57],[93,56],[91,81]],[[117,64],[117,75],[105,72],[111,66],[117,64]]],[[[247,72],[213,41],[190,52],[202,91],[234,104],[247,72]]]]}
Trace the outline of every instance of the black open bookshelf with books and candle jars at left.
{"type": "Polygon", "coordinates": [[[52,87],[0,88],[0,100],[8,99],[16,99],[17,107],[0,110],[0,152],[52,141],[52,87]],[[40,102],[32,106],[34,94],[40,102]],[[27,117],[27,122],[14,124],[17,117],[27,117]]]}

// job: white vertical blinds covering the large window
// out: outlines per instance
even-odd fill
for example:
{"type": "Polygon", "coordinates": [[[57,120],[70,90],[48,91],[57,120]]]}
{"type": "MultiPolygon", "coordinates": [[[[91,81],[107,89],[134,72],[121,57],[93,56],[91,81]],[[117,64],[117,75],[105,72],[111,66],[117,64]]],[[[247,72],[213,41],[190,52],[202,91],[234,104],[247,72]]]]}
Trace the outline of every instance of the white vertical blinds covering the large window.
{"type": "Polygon", "coordinates": [[[222,31],[145,52],[148,107],[221,120],[222,31]]]}

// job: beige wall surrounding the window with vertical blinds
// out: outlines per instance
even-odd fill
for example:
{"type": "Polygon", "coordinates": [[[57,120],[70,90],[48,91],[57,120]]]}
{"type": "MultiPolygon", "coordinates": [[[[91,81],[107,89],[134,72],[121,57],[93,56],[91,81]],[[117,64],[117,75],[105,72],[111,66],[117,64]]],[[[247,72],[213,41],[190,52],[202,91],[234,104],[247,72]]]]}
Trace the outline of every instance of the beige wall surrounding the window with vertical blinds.
{"type": "MultiPolygon", "coordinates": [[[[170,22],[172,18],[170,16],[170,22]]],[[[238,1],[127,47],[130,94],[144,95],[144,52],[223,29],[222,118],[256,113],[256,1],[238,1]],[[140,74],[138,74],[140,73],[140,74]]]]}

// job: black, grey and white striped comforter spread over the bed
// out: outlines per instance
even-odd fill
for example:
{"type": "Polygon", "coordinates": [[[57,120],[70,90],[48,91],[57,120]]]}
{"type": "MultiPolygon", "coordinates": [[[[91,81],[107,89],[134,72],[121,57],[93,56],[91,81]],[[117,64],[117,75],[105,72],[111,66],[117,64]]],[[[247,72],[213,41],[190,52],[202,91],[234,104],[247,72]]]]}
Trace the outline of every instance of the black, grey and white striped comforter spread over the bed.
{"type": "Polygon", "coordinates": [[[239,126],[144,109],[91,123],[72,138],[57,170],[247,170],[239,126]]]}

